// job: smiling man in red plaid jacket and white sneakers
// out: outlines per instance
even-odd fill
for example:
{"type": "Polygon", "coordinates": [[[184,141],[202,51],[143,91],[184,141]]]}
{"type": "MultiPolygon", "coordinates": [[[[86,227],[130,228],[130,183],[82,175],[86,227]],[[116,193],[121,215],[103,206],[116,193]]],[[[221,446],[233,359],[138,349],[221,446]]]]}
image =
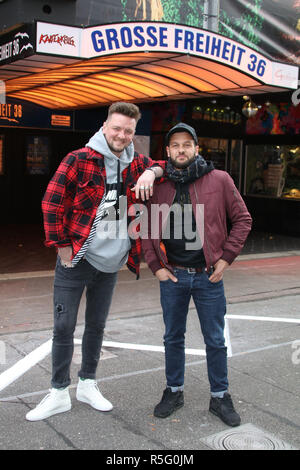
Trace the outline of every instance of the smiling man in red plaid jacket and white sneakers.
{"type": "Polygon", "coordinates": [[[139,195],[142,200],[152,195],[155,177],[163,173],[150,158],[134,151],[132,139],[140,117],[134,104],[111,105],[103,127],[86,147],[62,160],[43,198],[45,244],[58,253],[52,389],[27,413],[29,421],[71,409],[73,334],[84,288],[85,330],[76,397],[99,411],[112,409],[95,374],[117,273],[127,263],[139,275],[141,241],[130,239],[127,226],[134,217],[127,214],[139,195]]]}

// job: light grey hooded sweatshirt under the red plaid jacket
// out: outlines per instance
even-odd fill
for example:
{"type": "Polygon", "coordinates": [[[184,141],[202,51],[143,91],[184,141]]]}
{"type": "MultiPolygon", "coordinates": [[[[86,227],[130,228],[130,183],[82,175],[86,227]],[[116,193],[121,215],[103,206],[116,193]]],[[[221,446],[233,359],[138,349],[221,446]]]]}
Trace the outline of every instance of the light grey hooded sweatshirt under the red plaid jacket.
{"type": "Polygon", "coordinates": [[[87,147],[104,156],[106,188],[98,208],[102,215],[85,258],[99,271],[113,273],[119,271],[127,262],[131,247],[127,231],[127,201],[125,196],[119,194],[119,189],[122,184],[122,171],[134,158],[134,146],[131,143],[118,158],[108,147],[101,128],[91,137],[87,147]]]}

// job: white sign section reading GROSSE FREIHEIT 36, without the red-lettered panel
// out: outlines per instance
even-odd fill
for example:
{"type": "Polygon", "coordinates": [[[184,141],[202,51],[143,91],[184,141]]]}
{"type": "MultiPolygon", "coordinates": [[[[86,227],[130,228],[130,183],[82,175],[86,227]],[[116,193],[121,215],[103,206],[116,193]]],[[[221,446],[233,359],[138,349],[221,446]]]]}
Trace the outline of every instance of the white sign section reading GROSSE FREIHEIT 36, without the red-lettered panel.
{"type": "Polygon", "coordinates": [[[207,30],[164,23],[124,23],[83,30],[82,56],[159,51],[191,54],[234,67],[264,83],[297,88],[298,68],[207,30]]]}

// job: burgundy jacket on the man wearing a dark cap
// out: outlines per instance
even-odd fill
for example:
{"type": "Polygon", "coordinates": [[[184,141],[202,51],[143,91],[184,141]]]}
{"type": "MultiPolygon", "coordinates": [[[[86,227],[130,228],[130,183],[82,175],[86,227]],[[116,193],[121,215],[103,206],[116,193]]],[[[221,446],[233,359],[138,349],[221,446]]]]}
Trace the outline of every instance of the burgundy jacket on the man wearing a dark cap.
{"type": "MultiPolygon", "coordinates": [[[[231,264],[242,250],[252,225],[252,218],[231,176],[225,171],[212,170],[190,183],[189,192],[207,268],[214,266],[221,258],[231,264]],[[227,217],[231,222],[229,234],[227,217]]],[[[145,215],[148,222],[141,225],[144,227],[142,248],[153,274],[163,267],[172,271],[161,238],[168,220],[168,207],[172,206],[175,194],[175,184],[170,180],[155,185],[145,215]],[[160,211],[161,204],[167,205],[167,210],[160,211]],[[161,217],[157,217],[156,211],[161,212],[161,217]],[[153,234],[155,225],[156,233],[153,234]]]]}

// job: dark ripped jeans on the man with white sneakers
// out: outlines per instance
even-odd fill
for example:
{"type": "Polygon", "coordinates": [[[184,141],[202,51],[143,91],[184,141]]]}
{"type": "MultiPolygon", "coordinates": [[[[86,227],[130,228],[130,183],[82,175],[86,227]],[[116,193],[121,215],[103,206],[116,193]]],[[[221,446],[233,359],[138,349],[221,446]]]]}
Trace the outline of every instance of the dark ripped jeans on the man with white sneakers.
{"type": "Polygon", "coordinates": [[[71,383],[70,367],[74,351],[74,331],[83,290],[86,287],[85,329],[82,363],[78,376],[95,379],[103,333],[111,305],[117,273],[104,273],[81,260],[74,268],[64,268],[57,258],[54,278],[54,330],[52,346],[52,387],[71,383]]]}

